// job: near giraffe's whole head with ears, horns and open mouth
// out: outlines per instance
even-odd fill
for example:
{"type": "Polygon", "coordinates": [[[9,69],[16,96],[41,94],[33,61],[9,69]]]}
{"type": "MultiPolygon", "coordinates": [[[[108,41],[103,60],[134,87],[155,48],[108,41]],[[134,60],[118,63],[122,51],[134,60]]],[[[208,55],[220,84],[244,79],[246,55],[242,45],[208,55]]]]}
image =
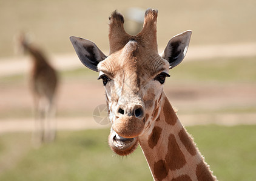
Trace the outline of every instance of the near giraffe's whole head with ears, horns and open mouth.
{"type": "Polygon", "coordinates": [[[161,102],[169,69],[186,55],[191,31],[173,37],[163,53],[157,49],[157,10],[148,9],[143,30],[136,36],[124,30],[124,17],[113,11],[110,20],[110,53],[105,56],[95,43],[70,37],[81,62],[99,72],[106,90],[107,109],[112,123],[109,145],[115,153],[127,155],[138,145],[145,125],[161,102]]]}

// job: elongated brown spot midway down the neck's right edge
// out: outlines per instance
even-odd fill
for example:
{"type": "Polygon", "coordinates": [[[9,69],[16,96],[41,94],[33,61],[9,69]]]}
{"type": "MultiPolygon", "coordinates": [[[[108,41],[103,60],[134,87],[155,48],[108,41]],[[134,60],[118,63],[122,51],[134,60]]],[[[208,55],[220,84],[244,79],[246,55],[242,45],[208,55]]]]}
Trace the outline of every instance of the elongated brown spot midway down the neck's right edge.
{"type": "Polygon", "coordinates": [[[189,153],[194,156],[195,154],[197,154],[197,150],[195,148],[195,145],[193,143],[193,139],[187,135],[186,130],[183,128],[180,133],[178,133],[181,142],[183,143],[183,145],[186,147],[187,151],[189,151],[189,153]]]}

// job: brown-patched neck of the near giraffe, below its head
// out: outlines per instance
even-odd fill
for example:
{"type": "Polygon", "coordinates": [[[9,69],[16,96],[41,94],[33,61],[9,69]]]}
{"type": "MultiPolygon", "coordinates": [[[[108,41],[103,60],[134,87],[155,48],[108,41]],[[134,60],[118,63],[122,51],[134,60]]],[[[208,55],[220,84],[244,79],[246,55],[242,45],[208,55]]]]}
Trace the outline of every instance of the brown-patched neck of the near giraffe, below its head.
{"type": "Polygon", "coordinates": [[[152,117],[139,139],[154,180],[215,180],[164,93],[152,117]]]}

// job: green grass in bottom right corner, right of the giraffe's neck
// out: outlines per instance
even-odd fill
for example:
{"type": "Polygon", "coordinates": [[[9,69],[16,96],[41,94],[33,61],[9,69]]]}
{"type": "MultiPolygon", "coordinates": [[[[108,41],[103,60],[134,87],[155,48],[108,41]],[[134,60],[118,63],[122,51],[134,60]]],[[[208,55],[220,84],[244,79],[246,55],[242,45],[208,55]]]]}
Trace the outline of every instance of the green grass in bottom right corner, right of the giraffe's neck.
{"type": "Polygon", "coordinates": [[[195,126],[189,132],[219,180],[255,180],[256,126],[195,126]]]}

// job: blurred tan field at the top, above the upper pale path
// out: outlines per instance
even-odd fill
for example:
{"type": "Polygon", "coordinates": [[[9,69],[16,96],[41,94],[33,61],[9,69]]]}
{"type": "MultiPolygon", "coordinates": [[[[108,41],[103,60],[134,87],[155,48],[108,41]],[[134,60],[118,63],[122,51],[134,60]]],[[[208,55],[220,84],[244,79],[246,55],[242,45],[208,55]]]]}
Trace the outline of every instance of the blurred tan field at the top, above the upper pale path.
{"type": "MultiPolygon", "coordinates": [[[[49,54],[73,52],[69,36],[93,40],[106,50],[109,15],[130,7],[157,8],[158,45],[192,30],[190,45],[256,42],[256,1],[0,1],[0,57],[13,55],[13,36],[28,31],[49,54]]],[[[126,21],[127,22],[127,21],[126,21]]]]}

